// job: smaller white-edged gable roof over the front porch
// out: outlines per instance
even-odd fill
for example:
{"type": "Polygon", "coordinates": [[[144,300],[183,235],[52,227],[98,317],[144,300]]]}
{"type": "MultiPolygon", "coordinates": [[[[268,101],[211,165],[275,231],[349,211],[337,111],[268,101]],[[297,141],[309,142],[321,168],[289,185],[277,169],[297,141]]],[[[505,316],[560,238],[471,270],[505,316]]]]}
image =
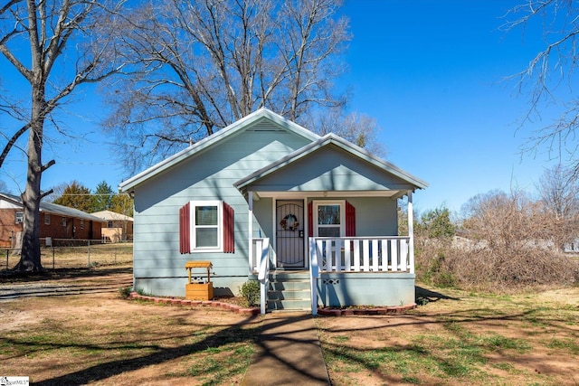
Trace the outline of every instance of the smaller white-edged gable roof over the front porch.
{"type": "Polygon", "coordinates": [[[236,182],[234,186],[243,192],[249,185],[260,180],[261,178],[271,175],[326,146],[337,146],[340,149],[345,150],[348,154],[354,155],[371,165],[375,165],[383,172],[393,174],[406,183],[413,185],[414,189],[425,189],[428,187],[428,184],[421,179],[403,171],[399,167],[389,162],[384,161],[382,158],[372,155],[362,147],[356,146],[351,142],[346,141],[346,139],[338,137],[333,133],[327,134],[324,137],[320,137],[317,141],[299,148],[293,153],[280,158],[278,161],[275,161],[270,165],[262,167],[261,169],[236,182]]]}

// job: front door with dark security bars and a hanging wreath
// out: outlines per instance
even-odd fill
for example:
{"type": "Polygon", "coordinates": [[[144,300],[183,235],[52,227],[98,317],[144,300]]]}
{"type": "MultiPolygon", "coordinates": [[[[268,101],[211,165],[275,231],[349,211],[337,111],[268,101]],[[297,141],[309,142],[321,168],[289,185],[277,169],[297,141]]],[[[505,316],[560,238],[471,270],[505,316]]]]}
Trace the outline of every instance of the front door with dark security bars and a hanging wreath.
{"type": "Polygon", "coordinates": [[[276,206],[276,266],[305,268],[304,202],[278,200],[276,206]]]}

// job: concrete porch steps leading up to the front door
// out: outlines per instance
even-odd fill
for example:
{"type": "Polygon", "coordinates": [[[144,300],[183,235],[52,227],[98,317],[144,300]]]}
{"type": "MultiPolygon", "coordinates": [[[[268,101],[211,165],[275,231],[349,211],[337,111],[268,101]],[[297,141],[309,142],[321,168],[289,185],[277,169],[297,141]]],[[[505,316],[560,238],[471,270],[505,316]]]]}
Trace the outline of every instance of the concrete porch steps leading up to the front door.
{"type": "Polygon", "coordinates": [[[269,311],[308,311],[311,290],[308,271],[272,271],[268,288],[269,311]]]}

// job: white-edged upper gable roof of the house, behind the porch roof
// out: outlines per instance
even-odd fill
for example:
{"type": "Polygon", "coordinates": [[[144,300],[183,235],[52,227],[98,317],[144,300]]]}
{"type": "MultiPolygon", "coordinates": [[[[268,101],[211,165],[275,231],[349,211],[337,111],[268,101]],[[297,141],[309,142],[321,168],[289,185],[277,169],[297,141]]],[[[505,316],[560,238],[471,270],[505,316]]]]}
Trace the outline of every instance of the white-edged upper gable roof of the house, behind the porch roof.
{"type": "Polygon", "coordinates": [[[204,150],[207,147],[213,146],[216,142],[222,140],[226,137],[231,137],[234,134],[242,131],[246,127],[251,127],[252,125],[257,125],[261,123],[261,120],[267,119],[278,126],[289,130],[295,134],[298,134],[301,137],[306,137],[311,141],[318,140],[319,136],[307,128],[299,126],[297,123],[290,121],[287,118],[283,118],[279,114],[274,113],[268,108],[260,108],[254,111],[252,114],[244,117],[233,124],[229,125],[228,127],[224,127],[223,129],[219,130],[218,132],[214,133],[209,137],[205,137],[201,141],[195,143],[193,146],[187,147],[185,150],[180,151],[176,155],[172,155],[165,160],[159,162],[157,165],[153,165],[149,167],[147,170],[129,178],[128,180],[119,184],[119,189],[121,192],[128,192],[138,184],[146,181],[148,178],[153,177],[161,172],[164,172],[166,169],[171,168],[172,166],[179,164],[180,162],[184,161],[185,159],[189,158],[192,155],[199,153],[201,150],[204,150]]]}

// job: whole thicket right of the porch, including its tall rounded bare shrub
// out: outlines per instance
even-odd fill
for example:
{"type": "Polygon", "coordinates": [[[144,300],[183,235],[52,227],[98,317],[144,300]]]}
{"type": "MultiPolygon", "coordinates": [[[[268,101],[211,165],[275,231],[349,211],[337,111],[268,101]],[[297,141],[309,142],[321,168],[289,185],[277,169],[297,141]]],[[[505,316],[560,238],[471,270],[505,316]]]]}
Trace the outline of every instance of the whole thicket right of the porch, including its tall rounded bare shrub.
{"type": "Polygon", "coordinates": [[[414,240],[417,280],[495,293],[577,285],[579,262],[561,253],[556,222],[526,194],[480,194],[465,212],[463,237],[452,236],[448,211],[422,216],[414,240]]]}

